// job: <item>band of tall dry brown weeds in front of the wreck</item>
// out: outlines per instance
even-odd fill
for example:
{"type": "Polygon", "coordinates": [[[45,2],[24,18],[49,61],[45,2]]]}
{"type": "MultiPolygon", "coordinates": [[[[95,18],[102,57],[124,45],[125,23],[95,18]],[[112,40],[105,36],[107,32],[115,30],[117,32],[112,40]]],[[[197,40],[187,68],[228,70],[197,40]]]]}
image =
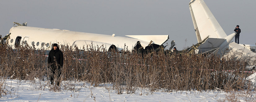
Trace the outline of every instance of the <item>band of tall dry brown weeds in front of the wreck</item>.
{"type": "MultiPolygon", "coordinates": [[[[138,88],[151,92],[158,89],[238,90],[246,87],[244,78],[251,74],[238,72],[246,71],[246,60],[220,59],[217,55],[165,55],[159,51],[142,56],[129,51],[108,52],[94,45],[84,49],[86,51],[61,48],[64,65],[60,80],[88,81],[94,86],[112,83],[118,94],[134,93],[138,88]]],[[[4,79],[49,79],[46,54],[43,49],[28,46],[12,49],[1,45],[0,93],[3,93],[4,79]]]]}

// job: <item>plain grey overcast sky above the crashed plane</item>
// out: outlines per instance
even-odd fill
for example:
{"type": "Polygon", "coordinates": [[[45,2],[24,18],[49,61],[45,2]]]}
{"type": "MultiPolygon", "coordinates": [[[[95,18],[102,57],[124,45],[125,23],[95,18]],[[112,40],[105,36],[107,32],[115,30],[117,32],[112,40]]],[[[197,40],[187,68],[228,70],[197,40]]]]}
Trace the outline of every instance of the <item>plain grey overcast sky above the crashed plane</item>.
{"type": "MultiPolygon", "coordinates": [[[[0,34],[12,22],[116,36],[169,35],[178,50],[197,43],[190,0],[1,0],[0,34]]],[[[240,43],[255,45],[256,0],[204,0],[227,35],[240,26],[240,43]]],[[[234,41],[234,39],[233,39],[234,41]]]]}

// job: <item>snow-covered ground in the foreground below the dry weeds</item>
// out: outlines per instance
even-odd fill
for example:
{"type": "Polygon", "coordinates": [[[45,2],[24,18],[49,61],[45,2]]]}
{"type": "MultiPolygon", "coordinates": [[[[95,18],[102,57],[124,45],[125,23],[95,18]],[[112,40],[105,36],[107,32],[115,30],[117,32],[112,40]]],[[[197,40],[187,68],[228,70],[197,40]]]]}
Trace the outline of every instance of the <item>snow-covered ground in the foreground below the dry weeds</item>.
{"type": "Polygon", "coordinates": [[[112,84],[99,87],[87,82],[62,81],[59,92],[48,81],[6,80],[4,94],[0,101],[4,102],[217,102],[226,98],[223,91],[178,91],[154,92],[137,89],[134,94],[117,94],[112,84]]]}

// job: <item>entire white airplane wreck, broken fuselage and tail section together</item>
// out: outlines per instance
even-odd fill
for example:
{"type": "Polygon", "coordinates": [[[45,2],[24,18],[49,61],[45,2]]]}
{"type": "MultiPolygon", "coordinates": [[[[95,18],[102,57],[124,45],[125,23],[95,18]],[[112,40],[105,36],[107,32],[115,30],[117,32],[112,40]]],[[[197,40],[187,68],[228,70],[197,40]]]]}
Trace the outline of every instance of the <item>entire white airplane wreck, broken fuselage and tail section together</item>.
{"type": "MultiPolygon", "coordinates": [[[[237,58],[248,56],[255,60],[255,45],[244,45],[232,42],[235,33],[226,35],[212,12],[209,10],[204,0],[191,0],[189,3],[190,13],[196,32],[198,43],[179,53],[189,54],[211,54],[215,53],[221,57],[236,55],[237,58]],[[254,52],[253,52],[254,51],[254,52]],[[237,54],[239,53],[239,54],[237,54]]],[[[99,45],[108,51],[113,49],[120,51],[128,49],[137,50],[139,53],[149,53],[154,50],[164,50],[163,44],[169,39],[169,35],[126,35],[118,37],[113,35],[103,35],[96,33],[84,33],[60,29],[47,29],[39,27],[28,27],[27,23],[18,24],[10,29],[10,33],[1,39],[2,43],[8,42],[15,48],[20,43],[34,46],[36,49],[50,50],[53,43],[68,45],[74,49],[84,49],[86,46],[99,45]],[[102,46],[103,45],[103,46],[102,46]]],[[[172,41],[167,53],[172,53],[175,42],[172,41]]]]}

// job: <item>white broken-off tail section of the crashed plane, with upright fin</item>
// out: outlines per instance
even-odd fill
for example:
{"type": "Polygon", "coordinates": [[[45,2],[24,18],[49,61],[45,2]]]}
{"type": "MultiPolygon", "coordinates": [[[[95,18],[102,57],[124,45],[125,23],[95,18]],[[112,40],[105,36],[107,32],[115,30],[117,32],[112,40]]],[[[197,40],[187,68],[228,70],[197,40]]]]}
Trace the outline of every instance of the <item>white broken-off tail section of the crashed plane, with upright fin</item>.
{"type": "Polygon", "coordinates": [[[246,47],[246,45],[239,45],[232,42],[236,34],[232,33],[226,35],[204,0],[191,0],[189,8],[196,37],[198,43],[200,43],[200,45],[197,44],[198,46],[196,47],[198,53],[215,50],[213,52],[224,57],[232,55],[236,55],[237,58],[248,56],[253,57],[253,60],[255,60],[256,53],[251,51],[253,47],[246,47]],[[240,53],[240,55],[237,53],[240,53]]]}

